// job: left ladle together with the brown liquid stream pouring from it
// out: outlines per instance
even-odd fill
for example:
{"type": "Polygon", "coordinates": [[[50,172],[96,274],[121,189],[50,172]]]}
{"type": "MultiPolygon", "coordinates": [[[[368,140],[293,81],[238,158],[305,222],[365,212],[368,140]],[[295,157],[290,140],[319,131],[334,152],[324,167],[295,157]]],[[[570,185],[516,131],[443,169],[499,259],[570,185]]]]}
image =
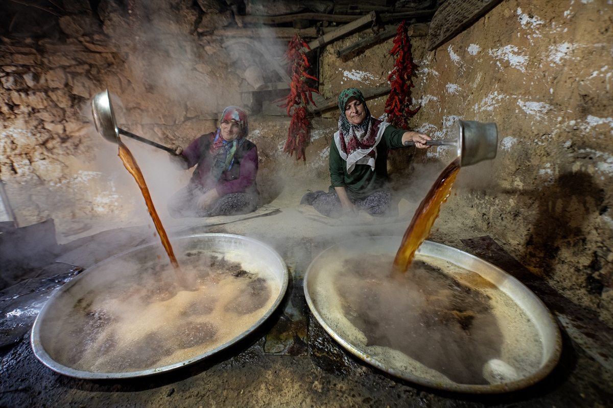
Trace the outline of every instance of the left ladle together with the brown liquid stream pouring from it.
{"type": "Polygon", "coordinates": [[[145,177],[143,177],[142,171],[140,171],[139,165],[138,163],[136,163],[136,159],[132,155],[132,152],[130,152],[128,147],[121,142],[119,135],[121,134],[129,136],[130,138],[149,144],[150,146],[166,150],[171,154],[176,155],[176,153],[173,149],[170,149],[170,147],[162,146],[161,144],[155,143],[145,138],[141,138],[140,136],[134,135],[133,133],[118,128],[108,89],[106,91],[102,91],[94,95],[94,98],[91,101],[91,112],[94,116],[94,124],[96,125],[96,130],[98,131],[98,133],[100,133],[100,135],[108,141],[118,144],[119,157],[123,161],[123,165],[126,167],[126,169],[128,169],[130,174],[132,174],[137,184],[139,185],[143,198],[145,198],[145,202],[147,203],[147,209],[149,210],[151,218],[153,218],[155,228],[158,231],[159,238],[162,241],[162,245],[164,246],[168,257],[170,258],[170,264],[172,264],[175,269],[175,274],[177,275],[178,282],[186,289],[190,289],[185,275],[183,274],[183,272],[181,272],[181,269],[177,262],[177,258],[175,257],[175,254],[172,250],[172,245],[170,245],[170,240],[168,239],[168,236],[166,234],[166,230],[162,225],[162,221],[159,219],[158,212],[153,206],[153,201],[151,200],[151,195],[149,193],[149,189],[147,188],[147,183],[145,183],[145,177]]]}

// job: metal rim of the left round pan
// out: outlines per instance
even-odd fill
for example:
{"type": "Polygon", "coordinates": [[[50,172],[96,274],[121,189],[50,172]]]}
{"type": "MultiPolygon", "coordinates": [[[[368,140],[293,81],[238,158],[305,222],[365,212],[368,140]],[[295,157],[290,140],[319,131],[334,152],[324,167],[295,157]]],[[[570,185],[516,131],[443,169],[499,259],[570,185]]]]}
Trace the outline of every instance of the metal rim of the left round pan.
{"type": "Polygon", "coordinates": [[[32,351],[34,351],[34,355],[36,355],[36,357],[40,360],[40,362],[42,362],[48,368],[52,369],[53,371],[56,371],[57,373],[64,374],[66,376],[77,377],[81,379],[124,379],[124,378],[145,377],[145,376],[151,376],[151,375],[159,374],[159,373],[166,373],[167,371],[172,371],[174,369],[178,369],[178,368],[199,362],[200,360],[204,360],[205,358],[210,357],[211,355],[216,354],[217,352],[222,351],[223,349],[226,349],[227,347],[230,347],[234,345],[235,343],[238,343],[243,338],[250,335],[252,332],[254,332],[254,330],[256,330],[256,328],[258,328],[262,323],[264,323],[264,321],[268,319],[268,317],[270,317],[270,315],[280,305],[281,300],[283,300],[285,292],[287,291],[287,284],[289,281],[289,273],[287,272],[287,265],[285,264],[285,261],[283,261],[283,258],[281,258],[281,256],[272,247],[268,246],[267,244],[259,240],[250,238],[250,237],[238,236],[235,234],[212,234],[212,233],[211,234],[192,234],[189,236],[173,237],[172,240],[189,239],[189,238],[195,238],[195,237],[219,237],[219,238],[224,237],[224,238],[230,238],[230,239],[245,240],[245,241],[254,243],[256,245],[261,246],[264,250],[270,251],[270,253],[274,256],[275,260],[280,262],[280,265],[283,267],[283,270],[284,270],[283,282],[280,285],[280,291],[279,291],[279,294],[275,302],[272,304],[272,306],[270,306],[270,308],[264,314],[264,316],[262,316],[256,323],[254,323],[251,327],[245,330],[245,332],[241,333],[240,335],[231,339],[227,343],[224,343],[221,346],[216,347],[215,349],[211,351],[208,351],[201,355],[194,356],[192,358],[189,358],[188,360],[183,360],[182,362],[178,362],[172,365],[157,367],[157,368],[145,369],[145,370],[140,370],[140,371],[131,371],[129,373],[94,373],[91,371],[82,371],[82,370],[64,366],[63,364],[58,363],[55,360],[53,360],[53,358],[51,358],[51,356],[47,353],[47,351],[45,351],[42,345],[42,339],[40,336],[40,330],[41,330],[40,327],[42,325],[42,321],[44,321],[45,314],[48,313],[48,310],[51,310],[51,308],[53,308],[53,300],[61,296],[61,294],[66,292],[68,289],[70,289],[70,287],[74,286],[74,284],[78,283],[78,281],[82,280],[83,276],[87,276],[88,272],[91,271],[91,269],[93,269],[94,267],[113,262],[115,258],[124,256],[125,254],[131,253],[132,251],[137,251],[137,250],[140,250],[141,248],[149,247],[151,245],[160,245],[158,242],[152,242],[152,243],[146,243],[145,245],[140,245],[139,247],[131,248],[127,251],[116,254],[110,258],[104,259],[104,261],[101,261],[95,265],[92,265],[91,267],[89,267],[88,269],[80,273],[79,275],[75,276],[75,278],[70,280],[68,283],[64,284],[64,286],[60,287],[58,291],[56,291],[50,297],[47,303],[45,303],[45,306],[43,306],[39,315],[36,317],[36,321],[34,321],[34,325],[32,326],[31,344],[32,344],[32,351]]]}

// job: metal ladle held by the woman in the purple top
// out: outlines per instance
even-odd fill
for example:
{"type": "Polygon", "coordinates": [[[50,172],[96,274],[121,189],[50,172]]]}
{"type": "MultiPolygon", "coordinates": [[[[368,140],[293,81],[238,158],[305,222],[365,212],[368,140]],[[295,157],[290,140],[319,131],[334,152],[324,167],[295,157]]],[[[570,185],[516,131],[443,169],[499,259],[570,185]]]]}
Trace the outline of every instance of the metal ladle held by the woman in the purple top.
{"type": "Polygon", "coordinates": [[[91,101],[91,113],[94,116],[94,124],[96,125],[96,130],[102,135],[103,138],[107,139],[110,142],[120,143],[121,139],[119,138],[119,135],[123,135],[138,140],[139,142],[146,143],[149,146],[166,150],[172,155],[177,155],[175,150],[171,149],[170,147],[152,142],[138,135],[134,135],[134,133],[130,133],[127,130],[118,128],[117,122],[115,121],[115,113],[113,112],[113,105],[111,105],[111,98],[108,89],[102,92],[98,92],[96,95],[94,95],[94,98],[91,101]]]}

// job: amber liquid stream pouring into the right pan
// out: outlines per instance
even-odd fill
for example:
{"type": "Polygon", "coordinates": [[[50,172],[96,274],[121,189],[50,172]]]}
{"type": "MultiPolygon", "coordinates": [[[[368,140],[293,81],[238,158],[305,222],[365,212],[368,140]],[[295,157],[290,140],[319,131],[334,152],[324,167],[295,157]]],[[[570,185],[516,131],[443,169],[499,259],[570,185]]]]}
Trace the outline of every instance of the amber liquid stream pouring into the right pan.
{"type": "Polygon", "coordinates": [[[430,236],[430,230],[434,221],[438,217],[441,205],[451,194],[451,187],[454,185],[455,177],[460,171],[460,158],[456,158],[438,176],[436,182],[430,187],[430,191],[422,200],[413,215],[413,220],[406,229],[405,236],[394,258],[392,276],[398,273],[405,273],[413,258],[417,248],[430,236]]]}

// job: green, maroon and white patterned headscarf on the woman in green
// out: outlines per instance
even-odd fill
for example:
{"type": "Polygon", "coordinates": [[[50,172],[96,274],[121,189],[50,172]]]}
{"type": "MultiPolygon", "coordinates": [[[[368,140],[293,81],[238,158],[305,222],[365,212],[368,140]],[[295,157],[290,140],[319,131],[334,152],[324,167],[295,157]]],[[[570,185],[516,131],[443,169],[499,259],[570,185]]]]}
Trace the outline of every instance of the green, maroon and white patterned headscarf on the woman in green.
{"type": "MultiPolygon", "coordinates": [[[[341,151],[341,156],[345,155],[347,157],[345,159],[347,160],[347,169],[351,172],[355,164],[362,164],[362,162],[365,164],[369,158],[376,159],[376,149],[374,147],[379,141],[377,134],[381,121],[370,115],[364,95],[357,88],[345,89],[345,91],[338,95],[338,109],[341,111],[338,117],[338,132],[340,133],[339,150],[341,151]],[[364,122],[359,125],[349,122],[345,114],[345,105],[351,97],[362,102],[366,111],[364,122]],[[350,157],[351,159],[349,159],[350,157]],[[363,157],[366,157],[365,160],[360,160],[363,157]],[[358,162],[358,160],[360,161],[358,162]]],[[[371,163],[373,163],[372,167],[374,169],[374,160],[371,163]]]]}

